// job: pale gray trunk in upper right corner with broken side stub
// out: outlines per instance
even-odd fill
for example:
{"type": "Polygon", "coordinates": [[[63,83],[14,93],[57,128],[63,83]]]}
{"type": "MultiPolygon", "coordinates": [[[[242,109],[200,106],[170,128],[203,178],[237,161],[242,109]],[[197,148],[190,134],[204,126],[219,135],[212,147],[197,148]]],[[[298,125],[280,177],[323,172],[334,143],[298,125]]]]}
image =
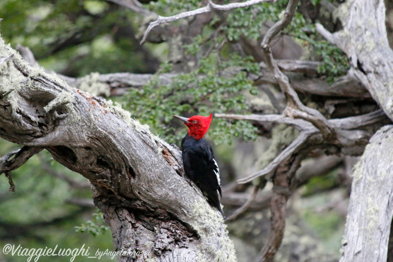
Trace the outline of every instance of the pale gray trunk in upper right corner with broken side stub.
{"type": "Polygon", "coordinates": [[[393,51],[389,46],[383,0],[346,1],[337,8],[343,29],[330,33],[322,25],[316,29],[350,58],[350,74],[358,78],[393,119],[393,51]],[[368,19],[365,19],[367,17],[368,19]]]}

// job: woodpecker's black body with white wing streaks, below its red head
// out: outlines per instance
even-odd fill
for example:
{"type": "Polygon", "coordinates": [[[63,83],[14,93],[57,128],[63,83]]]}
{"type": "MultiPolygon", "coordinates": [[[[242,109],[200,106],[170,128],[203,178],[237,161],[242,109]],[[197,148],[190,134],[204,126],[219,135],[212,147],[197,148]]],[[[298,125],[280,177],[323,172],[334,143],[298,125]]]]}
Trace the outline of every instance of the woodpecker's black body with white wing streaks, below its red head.
{"type": "Polygon", "coordinates": [[[221,213],[220,170],[214,160],[213,149],[206,140],[195,139],[188,134],[181,141],[184,171],[206,197],[207,202],[221,213]]]}

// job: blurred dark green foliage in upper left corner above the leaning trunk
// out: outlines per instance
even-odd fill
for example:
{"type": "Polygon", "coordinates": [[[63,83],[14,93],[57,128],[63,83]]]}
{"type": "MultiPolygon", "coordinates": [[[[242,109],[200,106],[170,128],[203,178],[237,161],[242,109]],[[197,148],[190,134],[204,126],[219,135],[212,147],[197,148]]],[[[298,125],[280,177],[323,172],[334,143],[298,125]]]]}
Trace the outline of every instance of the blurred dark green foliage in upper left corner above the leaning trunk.
{"type": "Polygon", "coordinates": [[[41,65],[56,72],[76,77],[91,72],[155,71],[149,68],[154,59],[139,52],[130,23],[135,13],[115,4],[2,0],[0,17],[6,42],[28,46],[41,65]]]}

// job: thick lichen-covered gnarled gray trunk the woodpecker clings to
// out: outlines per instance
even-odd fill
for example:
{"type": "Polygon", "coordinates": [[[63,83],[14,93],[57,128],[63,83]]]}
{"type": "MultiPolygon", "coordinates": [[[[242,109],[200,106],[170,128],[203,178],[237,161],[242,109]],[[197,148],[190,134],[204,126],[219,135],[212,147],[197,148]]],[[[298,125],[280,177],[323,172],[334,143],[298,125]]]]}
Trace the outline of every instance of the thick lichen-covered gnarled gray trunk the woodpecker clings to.
{"type": "Polygon", "coordinates": [[[221,214],[182,177],[177,148],[120,106],[31,67],[2,39],[0,137],[44,148],[91,182],[115,250],[141,254],[119,262],[236,260],[221,214]]]}

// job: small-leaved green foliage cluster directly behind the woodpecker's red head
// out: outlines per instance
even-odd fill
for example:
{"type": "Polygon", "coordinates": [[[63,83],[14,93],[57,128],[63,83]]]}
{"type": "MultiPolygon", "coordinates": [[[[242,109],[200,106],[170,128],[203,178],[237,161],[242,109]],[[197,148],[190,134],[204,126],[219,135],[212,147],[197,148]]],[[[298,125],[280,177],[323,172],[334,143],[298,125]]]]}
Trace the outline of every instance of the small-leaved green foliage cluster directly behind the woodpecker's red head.
{"type": "MultiPolygon", "coordinates": [[[[195,51],[194,46],[189,48],[190,52],[195,51]]],[[[168,142],[178,142],[185,131],[178,131],[169,124],[172,115],[246,113],[245,92],[257,92],[247,79],[247,73],[256,73],[258,69],[251,58],[233,56],[231,60],[220,61],[219,54],[212,53],[199,60],[196,70],[180,74],[169,85],[160,86],[157,75],[143,89],[131,90],[127,95],[127,107],[134,117],[151,125],[168,142]],[[228,77],[230,72],[227,71],[239,66],[244,68],[243,71],[228,77]]],[[[250,122],[215,119],[214,124],[209,134],[218,144],[230,143],[232,136],[245,140],[256,138],[250,122]]]]}

